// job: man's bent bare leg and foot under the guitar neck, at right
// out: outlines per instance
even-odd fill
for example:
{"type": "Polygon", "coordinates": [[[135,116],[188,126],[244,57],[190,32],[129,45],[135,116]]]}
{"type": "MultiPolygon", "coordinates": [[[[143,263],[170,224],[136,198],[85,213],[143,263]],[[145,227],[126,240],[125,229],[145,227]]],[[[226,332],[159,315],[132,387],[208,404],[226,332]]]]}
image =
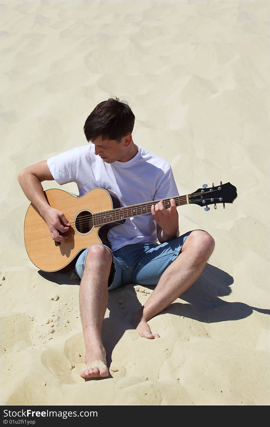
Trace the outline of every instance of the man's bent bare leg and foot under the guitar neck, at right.
{"type": "Polygon", "coordinates": [[[140,336],[159,338],[148,320],[165,310],[197,280],[215,248],[214,239],[203,230],[194,230],[186,238],[178,257],[165,270],[144,306],[134,314],[132,324],[140,336]]]}

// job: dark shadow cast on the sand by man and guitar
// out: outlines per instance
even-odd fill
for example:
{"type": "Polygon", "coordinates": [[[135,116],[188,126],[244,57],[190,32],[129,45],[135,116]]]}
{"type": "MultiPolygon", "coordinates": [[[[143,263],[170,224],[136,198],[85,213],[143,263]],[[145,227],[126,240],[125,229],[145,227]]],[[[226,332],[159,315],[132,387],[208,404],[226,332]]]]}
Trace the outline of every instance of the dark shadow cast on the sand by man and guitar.
{"type": "MultiPolygon", "coordinates": [[[[49,273],[41,270],[38,273],[46,280],[59,285],[80,284],[78,278],[76,279],[75,275],[71,276],[71,273],[49,273]]],[[[198,322],[215,323],[244,319],[250,316],[253,310],[270,315],[270,310],[268,309],[252,307],[239,301],[227,302],[219,298],[231,294],[230,286],[232,284],[233,278],[231,275],[215,266],[206,264],[197,281],[181,295],[181,300],[186,301],[186,303],[174,302],[157,316],[170,313],[175,316],[194,319],[198,322]]],[[[143,285],[143,287],[149,290],[154,289],[154,286],[143,285]]],[[[139,308],[134,284],[128,284],[109,292],[108,310],[110,311],[110,316],[104,319],[102,328],[102,339],[107,351],[108,366],[110,366],[112,352],[117,342],[119,342],[126,330],[134,329],[131,324],[131,318],[139,308]],[[119,310],[119,298],[125,300],[127,311],[125,309],[119,310]]]]}

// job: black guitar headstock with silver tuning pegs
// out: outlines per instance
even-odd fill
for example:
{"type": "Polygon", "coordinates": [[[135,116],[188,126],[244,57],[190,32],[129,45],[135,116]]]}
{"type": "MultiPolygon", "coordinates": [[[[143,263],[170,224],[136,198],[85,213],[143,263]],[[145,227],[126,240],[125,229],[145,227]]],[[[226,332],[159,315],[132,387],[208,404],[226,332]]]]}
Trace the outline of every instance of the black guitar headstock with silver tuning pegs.
{"type": "Polygon", "coordinates": [[[194,193],[189,194],[189,203],[195,203],[199,206],[205,206],[205,211],[209,211],[208,205],[216,205],[218,203],[223,203],[225,208],[225,203],[232,203],[237,197],[236,187],[230,182],[226,184],[220,183],[218,186],[212,185],[212,187],[207,187],[207,184],[203,184],[203,188],[198,188],[194,193]]]}

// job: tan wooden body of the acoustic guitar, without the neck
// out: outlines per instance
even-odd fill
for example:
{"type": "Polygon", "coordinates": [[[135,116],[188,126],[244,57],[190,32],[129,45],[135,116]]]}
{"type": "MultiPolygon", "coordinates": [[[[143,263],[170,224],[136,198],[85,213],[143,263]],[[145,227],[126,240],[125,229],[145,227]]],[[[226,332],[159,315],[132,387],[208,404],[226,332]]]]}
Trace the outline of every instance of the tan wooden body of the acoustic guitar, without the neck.
{"type": "Polygon", "coordinates": [[[32,203],[29,206],[24,221],[24,243],[32,263],[43,271],[72,271],[82,250],[95,243],[111,247],[108,231],[125,222],[123,219],[102,226],[94,226],[93,220],[91,222],[93,213],[121,207],[118,198],[103,188],[94,188],[81,197],[58,189],[46,190],[44,194],[49,205],[63,212],[71,226],[63,234],[69,238],[59,245],[52,240],[48,225],[37,208],[32,203]]]}

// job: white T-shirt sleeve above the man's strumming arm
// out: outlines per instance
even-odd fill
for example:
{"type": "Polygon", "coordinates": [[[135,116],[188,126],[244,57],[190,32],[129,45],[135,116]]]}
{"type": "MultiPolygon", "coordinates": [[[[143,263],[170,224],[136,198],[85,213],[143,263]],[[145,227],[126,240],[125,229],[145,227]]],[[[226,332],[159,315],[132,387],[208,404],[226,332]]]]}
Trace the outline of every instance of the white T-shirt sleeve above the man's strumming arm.
{"type": "Polygon", "coordinates": [[[53,178],[60,185],[67,184],[68,182],[76,182],[78,163],[78,147],[47,160],[53,178]]]}

